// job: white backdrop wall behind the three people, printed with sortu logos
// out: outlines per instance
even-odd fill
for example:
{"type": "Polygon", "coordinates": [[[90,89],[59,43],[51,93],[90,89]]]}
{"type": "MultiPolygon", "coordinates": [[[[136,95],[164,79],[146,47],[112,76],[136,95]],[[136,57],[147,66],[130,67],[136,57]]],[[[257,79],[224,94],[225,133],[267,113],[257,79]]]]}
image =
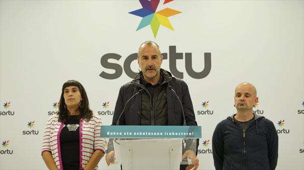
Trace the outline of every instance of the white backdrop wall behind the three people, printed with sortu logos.
{"type": "MultiPolygon", "coordinates": [[[[174,31],[160,26],[154,38],[150,26],[136,31],[141,17],[128,13],[142,8],[138,0],[1,0],[0,169],[46,169],[42,134],[67,80],[84,85],[91,108],[110,125],[118,90],[131,78],[124,71],[114,80],[100,77],[103,71],[114,73],[101,65],[101,59],[116,53],[120,60],[108,62],[123,68],[142,42],[152,40],[162,53],[169,53],[169,46],[183,53],[176,68],[183,72],[202,126],[200,170],[214,169],[213,130],[236,112],[234,88],[244,81],[258,90],[254,110],[278,130],[277,170],[303,170],[304,1],[160,1],[156,11],[166,7],[181,13],[168,17],[174,31]],[[190,67],[196,72],[204,69],[204,53],[211,53],[207,77],[187,74],[185,53],[192,53],[190,67]],[[201,105],[205,101],[207,108],[201,105]],[[105,102],[109,107],[103,107],[105,102]],[[283,120],[281,127],[278,122],[283,120]],[[204,141],[209,145],[203,146],[204,141]]],[[[169,61],[168,57],[162,64],[168,71],[169,61]]],[[[131,68],[138,70],[136,61],[131,68]]],[[[106,167],[103,158],[99,169],[119,166],[106,167]]]]}

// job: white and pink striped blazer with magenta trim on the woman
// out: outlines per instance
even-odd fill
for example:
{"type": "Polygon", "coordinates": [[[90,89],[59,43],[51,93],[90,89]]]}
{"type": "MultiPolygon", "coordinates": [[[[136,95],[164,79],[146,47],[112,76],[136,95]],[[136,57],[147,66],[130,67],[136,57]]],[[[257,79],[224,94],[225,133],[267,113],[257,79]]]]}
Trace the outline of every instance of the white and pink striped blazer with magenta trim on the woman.
{"type": "MultiPolygon", "coordinates": [[[[54,114],[47,121],[41,153],[44,151],[51,152],[57,168],[63,170],[60,153],[60,132],[64,121],[58,122],[58,117],[58,114],[54,114]]],[[[82,119],[79,121],[80,169],[87,165],[94,151],[100,150],[105,153],[105,140],[100,137],[101,125],[101,119],[96,113],[93,113],[90,121],[82,119]]],[[[97,168],[98,166],[95,167],[95,169],[97,168]]]]}

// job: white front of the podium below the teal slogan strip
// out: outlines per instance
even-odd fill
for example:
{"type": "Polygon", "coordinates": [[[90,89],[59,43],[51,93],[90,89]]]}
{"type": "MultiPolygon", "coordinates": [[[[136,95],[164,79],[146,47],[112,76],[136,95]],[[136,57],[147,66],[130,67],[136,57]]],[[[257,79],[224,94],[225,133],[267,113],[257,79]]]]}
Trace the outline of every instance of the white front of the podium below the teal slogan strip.
{"type": "Polygon", "coordinates": [[[179,170],[182,139],[133,139],[114,142],[123,170],[179,170]]]}

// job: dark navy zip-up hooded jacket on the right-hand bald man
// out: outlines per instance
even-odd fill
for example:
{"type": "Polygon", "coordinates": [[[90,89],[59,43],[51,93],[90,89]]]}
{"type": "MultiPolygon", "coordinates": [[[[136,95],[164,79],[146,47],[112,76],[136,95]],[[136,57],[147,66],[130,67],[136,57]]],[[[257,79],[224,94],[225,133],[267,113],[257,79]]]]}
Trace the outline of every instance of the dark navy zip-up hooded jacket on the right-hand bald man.
{"type": "Polygon", "coordinates": [[[240,124],[233,119],[234,115],[221,121],[214,130],[212,151],[215,169],[275,170],[278,134],[273,122],[254,114],[254,121],[243,134],[240,124]]]}

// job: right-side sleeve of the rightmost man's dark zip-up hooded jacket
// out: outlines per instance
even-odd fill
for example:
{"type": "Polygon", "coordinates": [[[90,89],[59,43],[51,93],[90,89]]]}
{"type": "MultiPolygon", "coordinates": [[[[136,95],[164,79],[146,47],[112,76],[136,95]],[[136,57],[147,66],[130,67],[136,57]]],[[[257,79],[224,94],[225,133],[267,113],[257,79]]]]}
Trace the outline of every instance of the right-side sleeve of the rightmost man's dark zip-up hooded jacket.
{"type": "Polygon", "coordinates": [[[278,163],[279,137],[275,125],[271,122],[267,135],[268,160],[270,170],[275,170],[278,163]]]}

